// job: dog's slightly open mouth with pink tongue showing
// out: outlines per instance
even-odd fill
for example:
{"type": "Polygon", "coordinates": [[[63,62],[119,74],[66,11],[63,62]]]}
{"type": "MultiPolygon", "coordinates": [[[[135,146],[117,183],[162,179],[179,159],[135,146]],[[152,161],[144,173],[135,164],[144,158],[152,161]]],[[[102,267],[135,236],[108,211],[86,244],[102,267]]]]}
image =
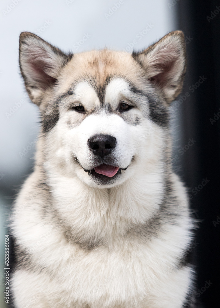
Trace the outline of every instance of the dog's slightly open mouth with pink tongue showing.
{"type": "MultiPolygon", "coordinates": [[[[128,168],[128,167],[127,167],[128,168]]],[[[98,177],[114,177],[117,174],[121,174],[121,170],[126,170],[127,168],[119,168],[116,166],[101,164],[90,170],[84,169],[85,172],[88,172],[88,175],[94,175],[98,177]]]]}

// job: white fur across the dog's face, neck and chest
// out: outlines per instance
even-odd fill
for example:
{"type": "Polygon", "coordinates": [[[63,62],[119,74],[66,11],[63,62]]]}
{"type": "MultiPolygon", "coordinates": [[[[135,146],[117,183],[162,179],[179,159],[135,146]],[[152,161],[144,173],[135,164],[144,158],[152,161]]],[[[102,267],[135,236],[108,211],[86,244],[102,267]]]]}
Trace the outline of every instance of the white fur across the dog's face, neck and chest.
{"type": "MultiPolygon", "coordinates": [[[[104,64],[98,66],[104,73],[104,64]]],[[[63,93],[64,83],[57,93],[63,93]]],[[[88,112],[100,102],[92,86],[81,81],[71,98],[64,98],[57,124],[39,137],[34,172],[12,215],[16,242],[31,256],[30,270],[20,267],[12,278],[17,308],[182,307],[194,275],[190,266],[177,268],[193,228],[186,189],[166,165],[169,132],[149,119],[147,99],[142,102],[145,115],[139,107],[129,111],[141,119],[138,125],[117,113],[120,101],[132,95],[126,80],[114,78],[104,101],[114,112],[83,118],[68,102],[88,112]],[[128,167],[113,184],[96,184],[83,170],[94,167],[88,139],[96,134],[116,138],[117,166],[128,167]],[[170,209],[176,219],[172,223],[168,216],[154,234],[151,219],[162,211],[165,169],[177,200],[170,209]],[[44,182],[49,191],[41,186],[44,182]],[[144,223],[149,232],[137,236],[144,223]],[[90,240],[98,245],[83,247],[90,240]]]]}

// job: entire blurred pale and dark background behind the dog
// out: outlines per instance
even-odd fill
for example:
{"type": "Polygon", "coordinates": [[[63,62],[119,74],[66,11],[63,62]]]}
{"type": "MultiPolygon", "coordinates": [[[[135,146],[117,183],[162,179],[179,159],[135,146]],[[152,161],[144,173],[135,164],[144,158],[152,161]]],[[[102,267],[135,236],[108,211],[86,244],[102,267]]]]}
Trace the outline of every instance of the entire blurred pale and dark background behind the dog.
{"type": "Polygon", "coordinates": [[[0,306],[7,307],[6,220],[14,195],[33,168],[39,131],[38,109],[30,103],[19,72],[20,32],[33,32],[77,53],[103,47],[132,52],[183,30],[188,67],[182,94],[171,106],[173,164],[189,188],[194,217],[202,221],[192,246],[197,297],[204,307],[219,307],[220,1],[2,0],[0,6],[0,306]]]}

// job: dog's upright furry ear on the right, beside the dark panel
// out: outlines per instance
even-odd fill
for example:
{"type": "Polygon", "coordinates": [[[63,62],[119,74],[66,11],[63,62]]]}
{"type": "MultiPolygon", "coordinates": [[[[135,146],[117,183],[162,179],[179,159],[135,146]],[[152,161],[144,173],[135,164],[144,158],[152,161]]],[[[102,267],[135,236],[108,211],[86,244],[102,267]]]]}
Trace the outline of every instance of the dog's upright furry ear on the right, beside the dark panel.
{"type": "Polygon", "coordinates": [[[186,72],[186,43],[182,31],[173,31],[141,52],[132,53],[147,78],[158,86],[168,103],[182,90],[186,72]]]}

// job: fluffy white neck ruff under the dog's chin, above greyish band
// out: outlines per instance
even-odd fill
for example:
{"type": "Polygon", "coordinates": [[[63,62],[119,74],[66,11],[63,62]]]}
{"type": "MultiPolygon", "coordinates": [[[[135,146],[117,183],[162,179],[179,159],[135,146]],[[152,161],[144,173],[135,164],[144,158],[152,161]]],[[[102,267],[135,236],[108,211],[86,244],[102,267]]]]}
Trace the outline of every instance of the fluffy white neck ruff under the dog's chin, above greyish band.
{"type": "Polygon", "coordinates": [[[65,175],[53,160],[45,164],[42,157],[38,152],[35,172],[38,178],[44,177],[51,206],[75,242],[115,245],[129,230],[142,228],[159,215],[166,193],[164,181],[170,173],[169,164],[163,161],[156,160],[148,170],[140,161],[134,175],[120,188],[94,188],[77,176],[65,175]]]}

